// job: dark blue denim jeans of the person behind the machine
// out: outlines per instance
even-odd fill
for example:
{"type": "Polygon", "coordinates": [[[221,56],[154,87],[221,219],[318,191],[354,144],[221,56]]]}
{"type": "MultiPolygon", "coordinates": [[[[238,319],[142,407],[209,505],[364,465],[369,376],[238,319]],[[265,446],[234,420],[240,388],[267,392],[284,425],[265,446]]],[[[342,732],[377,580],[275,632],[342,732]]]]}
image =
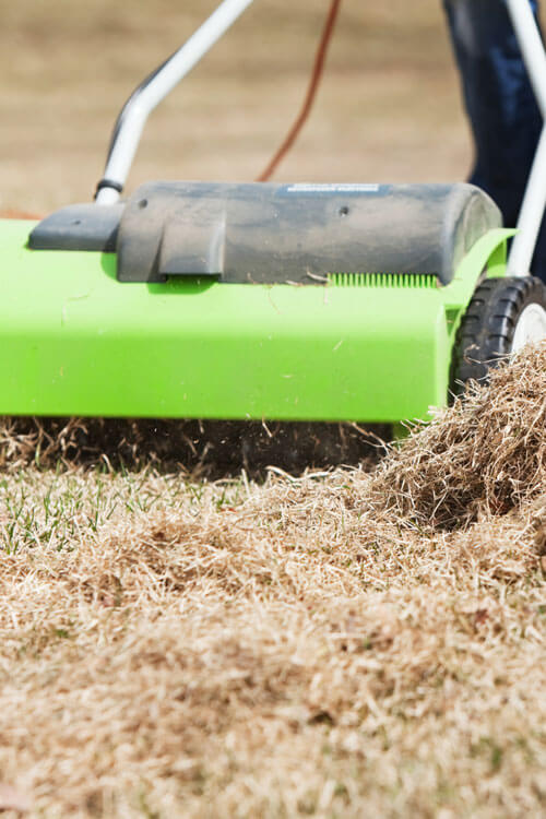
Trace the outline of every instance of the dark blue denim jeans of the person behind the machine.
{"type": "MultiPolygon", "coordinates": [[[[529,0],[537,15],[537,0],[529,0]]],[[[470,181],[518,219],[543,119],[503,0],[443,0],[475,143],[470,181]]],[[[546,282],[546,222],[533,273],[546,282]]]]}

